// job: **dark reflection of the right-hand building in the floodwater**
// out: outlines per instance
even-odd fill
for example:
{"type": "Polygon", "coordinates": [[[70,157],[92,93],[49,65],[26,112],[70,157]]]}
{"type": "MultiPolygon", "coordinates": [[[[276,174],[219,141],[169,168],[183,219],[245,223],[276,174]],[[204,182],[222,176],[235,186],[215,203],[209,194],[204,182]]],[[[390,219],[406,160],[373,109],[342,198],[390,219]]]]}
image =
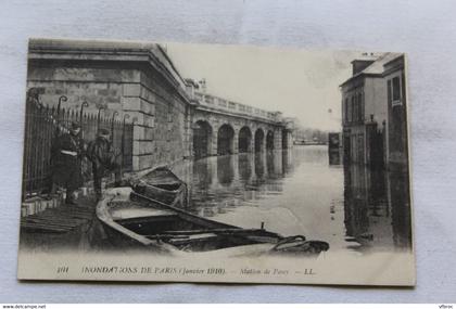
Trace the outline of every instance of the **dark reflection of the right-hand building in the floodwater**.
{"type": "Polygon", "coordinates": [[[344,167],[346,235],[367,247],[411,244],[408,177],[404,172],[344,167]]]}

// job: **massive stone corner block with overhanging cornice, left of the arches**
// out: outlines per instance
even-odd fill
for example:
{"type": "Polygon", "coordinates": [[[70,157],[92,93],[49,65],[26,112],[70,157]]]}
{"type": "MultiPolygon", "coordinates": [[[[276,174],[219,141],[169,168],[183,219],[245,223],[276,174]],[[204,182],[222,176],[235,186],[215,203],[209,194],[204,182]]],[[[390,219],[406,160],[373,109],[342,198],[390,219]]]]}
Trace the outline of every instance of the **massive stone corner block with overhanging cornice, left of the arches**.
{"type": "Polygon", "coordinates": [[[30,41],[27,88],[46,105],[65,95],[65,108],[136,118],[132,166],[142,170],[190,156],[185,81],[157,44],[30,41]]]}

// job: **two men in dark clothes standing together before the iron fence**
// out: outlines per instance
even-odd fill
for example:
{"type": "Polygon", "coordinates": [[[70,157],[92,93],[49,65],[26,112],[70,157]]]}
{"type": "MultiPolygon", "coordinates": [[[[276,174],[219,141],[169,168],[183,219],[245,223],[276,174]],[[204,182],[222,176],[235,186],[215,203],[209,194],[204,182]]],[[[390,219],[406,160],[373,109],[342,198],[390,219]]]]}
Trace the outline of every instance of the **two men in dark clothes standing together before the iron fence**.
{"type": "Polygon", "coordinates": [[[97,138],[85,143],[81,127],[74,121],[68,132],[59,134],[51,147],[51,195],[59,186],[66,189],[65,203],[77,204],[74,193],[84,183],[83,159],[87,157],[92,166],[93,189],[97,201],[101,198],[101,182],[106,172],[115,173],[115,181],[121,181],[121,168],[117,155],[111,142],[110,131],[99,129],[97,138]]]}

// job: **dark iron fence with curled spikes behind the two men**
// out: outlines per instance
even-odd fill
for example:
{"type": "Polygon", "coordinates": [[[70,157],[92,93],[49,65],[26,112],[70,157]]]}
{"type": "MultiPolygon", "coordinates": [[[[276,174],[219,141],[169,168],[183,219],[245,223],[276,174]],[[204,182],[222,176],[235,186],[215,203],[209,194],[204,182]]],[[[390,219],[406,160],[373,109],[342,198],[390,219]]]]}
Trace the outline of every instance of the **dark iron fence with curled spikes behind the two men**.
{"type": "MultiPolygon", "coordinates": [[[[24,140],[24,165],[23,165],[23,199],[40,194],[50,188],[51,182],[51,145],[63,132],[68,131],[72,121],[78,121],[81,126],[81,137],[85,143],[96,139],[99,128],[111,130],[112,143],[118,154],[118,162],[123,171],[132,169],[132,136],[135,119],[128,121],[129,115],[125,114],[118,119],[118,113],[114,112],[111,117],[101,113],[84,112],[88,104],[85,102],[80,108],[61,108],[61,103],[66,96],[59,99],[58,107],[45,106],[37,98],[27,95],[25,140],[24,140]]],[[[91,164],[85,157],[81,162],[81,171],[85,181],[91,179],[91,164]]]]}

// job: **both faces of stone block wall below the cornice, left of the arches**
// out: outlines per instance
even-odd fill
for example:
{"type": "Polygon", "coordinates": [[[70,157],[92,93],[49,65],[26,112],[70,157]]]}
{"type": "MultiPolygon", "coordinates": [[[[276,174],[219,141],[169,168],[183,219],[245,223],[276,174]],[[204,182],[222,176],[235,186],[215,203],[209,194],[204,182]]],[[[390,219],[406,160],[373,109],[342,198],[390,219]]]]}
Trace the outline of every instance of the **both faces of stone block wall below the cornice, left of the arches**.
{"type": "Polygon", "coordinates": [[[27,88],[38,88],[40,101],[56,106],[66,95],[62,108],[79,111],[87,101],[88,113],[122,119],[137,118],[134,130],[134,170],[168,165],[189,156],[188,107],[185,100],[165,85],[163,78],[144,67],[113,68],[112,64],[86,67],[71,63],[35,63],[28,67],[27,88]]]}

